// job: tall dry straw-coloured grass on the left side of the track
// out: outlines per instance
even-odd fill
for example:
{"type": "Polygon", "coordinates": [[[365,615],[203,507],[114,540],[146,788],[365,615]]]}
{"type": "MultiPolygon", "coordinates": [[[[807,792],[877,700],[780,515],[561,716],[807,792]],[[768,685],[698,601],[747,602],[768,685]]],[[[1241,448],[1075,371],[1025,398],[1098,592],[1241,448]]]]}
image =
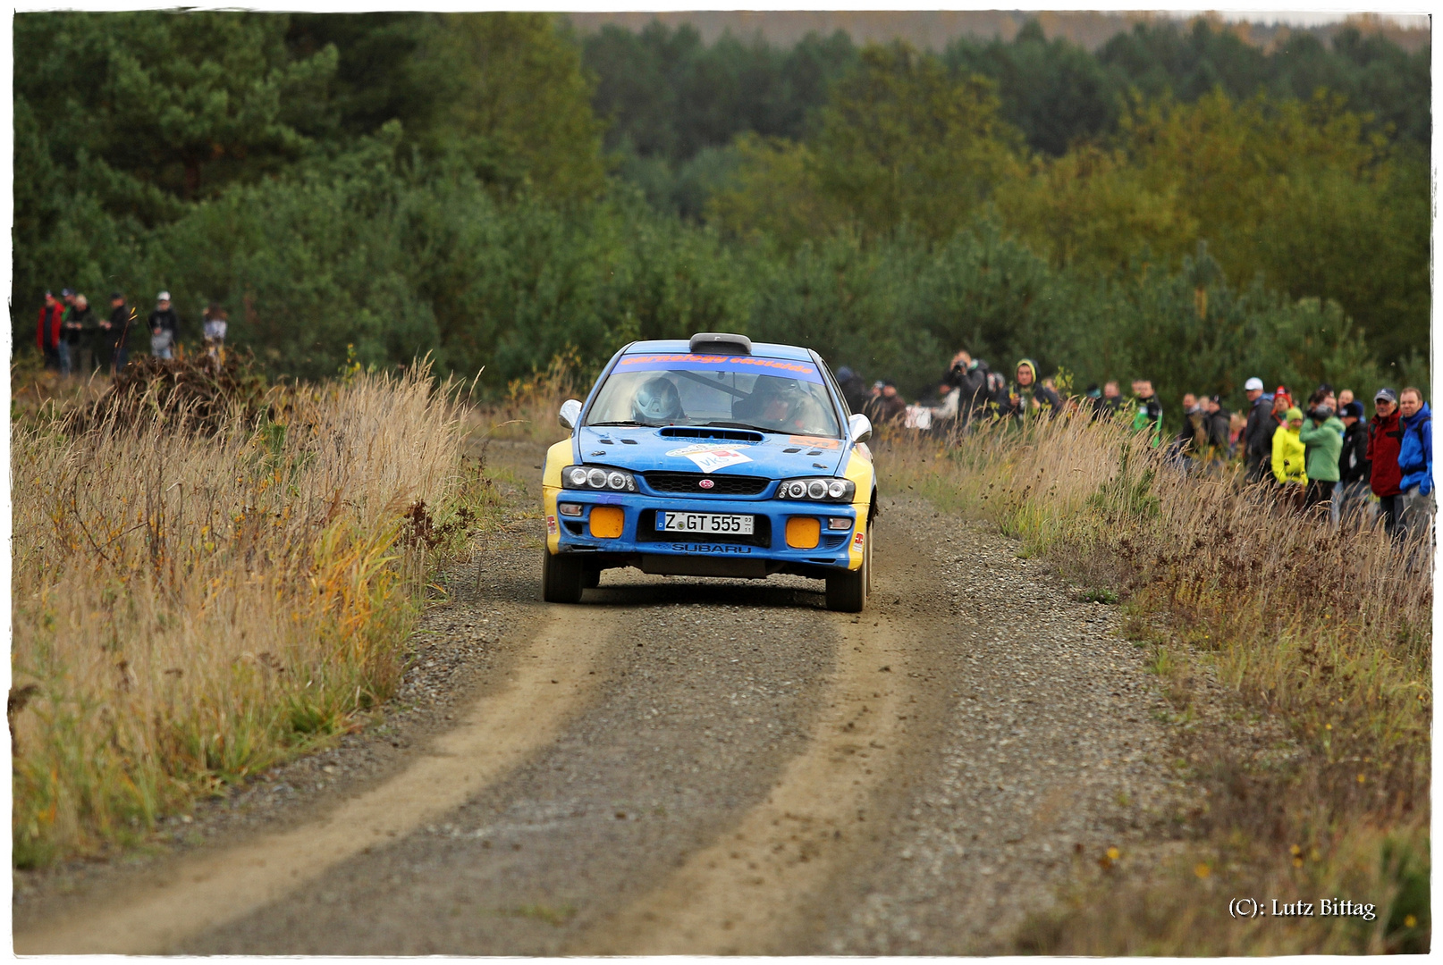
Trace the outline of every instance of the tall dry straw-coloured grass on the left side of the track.
{"type": "Polygon", "coordinates": [[[12,426],[16,864],[134,838],[390,694],[408,519],[459,443],[424,371],[280,392],[215,434],[12,426]]]}

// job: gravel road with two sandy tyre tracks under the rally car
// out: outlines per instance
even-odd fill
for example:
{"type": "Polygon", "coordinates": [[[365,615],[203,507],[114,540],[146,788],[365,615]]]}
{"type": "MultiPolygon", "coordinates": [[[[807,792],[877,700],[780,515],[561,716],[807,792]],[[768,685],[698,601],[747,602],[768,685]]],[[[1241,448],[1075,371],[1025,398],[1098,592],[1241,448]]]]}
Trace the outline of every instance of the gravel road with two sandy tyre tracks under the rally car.
{"type": "Polygon", "coordinates": [[[1167,816],[1140,652],[986,526],[886,496],[860,617],[792,577],[543,604],[540,534],[456,576],[382,731],[17,881],[16,951],[1006,952],[1167,816]]]}

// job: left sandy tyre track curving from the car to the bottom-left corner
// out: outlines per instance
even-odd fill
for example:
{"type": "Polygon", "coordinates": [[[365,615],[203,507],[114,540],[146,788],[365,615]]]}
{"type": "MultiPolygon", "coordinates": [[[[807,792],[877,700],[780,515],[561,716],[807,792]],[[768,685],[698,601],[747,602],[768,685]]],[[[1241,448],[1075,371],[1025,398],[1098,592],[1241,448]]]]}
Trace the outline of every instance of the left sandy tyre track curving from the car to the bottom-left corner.
{"type": "Polygon", "coordinates": [[[120,902],[82,909],[14,936],[19,955],[163,953],[186,938],[255,912],[336,863],[391,844],[495,783],[561,731],[596,679],[613,613],[550,607],[501,692],[472,705],[457,727],[401,775],[328,816],[172,867],[166,880],[120,902]]]}

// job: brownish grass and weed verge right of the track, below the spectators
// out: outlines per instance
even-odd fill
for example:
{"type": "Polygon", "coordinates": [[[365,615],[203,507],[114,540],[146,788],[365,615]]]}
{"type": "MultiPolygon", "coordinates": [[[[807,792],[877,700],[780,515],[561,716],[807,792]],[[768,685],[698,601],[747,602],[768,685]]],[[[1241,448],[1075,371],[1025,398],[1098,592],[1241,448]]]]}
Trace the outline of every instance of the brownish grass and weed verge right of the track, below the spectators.
{"type": "Polygon", "coordinates": [[[955,447],[898,433],[876,449],[892,486],[990,519],[1084,593],[1123,602],[1175,707],[1179,769],[1203,793],[1170,815],[1180,851],[1079,863],[1019,951],[1427,951],[1426,567],[1381,534],[1333,534],[1231,479],[1170,470],[1120,426],[990,428],[955,447]],[[1235,919],[1234,897],[1375,907],[1235,919]]]}

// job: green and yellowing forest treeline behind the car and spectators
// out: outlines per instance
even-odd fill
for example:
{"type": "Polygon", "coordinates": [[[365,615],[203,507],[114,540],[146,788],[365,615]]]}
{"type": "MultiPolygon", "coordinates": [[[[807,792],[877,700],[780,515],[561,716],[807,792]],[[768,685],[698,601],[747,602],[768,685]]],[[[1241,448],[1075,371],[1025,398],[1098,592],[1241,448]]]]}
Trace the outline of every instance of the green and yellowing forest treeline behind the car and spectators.
{"type": "Polygon", "coordinates": [[[1429,52],[1351,30],[932,55],[517,13],[25,13],[14,53],[19,351],[71,286],[167,288],[196,326],[218,300],[274,372],[430,352],[489,391],[698,329],[905,392],[962,346],[1165,398],[1426,375],[1429,52]]]}

